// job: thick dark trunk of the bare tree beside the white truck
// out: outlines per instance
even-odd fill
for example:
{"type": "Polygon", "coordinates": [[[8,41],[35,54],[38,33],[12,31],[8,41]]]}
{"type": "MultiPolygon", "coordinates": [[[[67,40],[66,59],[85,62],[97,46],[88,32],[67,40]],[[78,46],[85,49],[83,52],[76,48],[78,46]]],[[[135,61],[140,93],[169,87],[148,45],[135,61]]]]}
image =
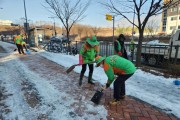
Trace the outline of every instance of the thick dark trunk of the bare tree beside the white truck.
{"type": "Polygon", "coordinates": [[[143,41],[143,30],[139,30],[139,41],[136,55],[136,67],[141,66],[141,49],[142,49],[142,41],[143,41]]]}

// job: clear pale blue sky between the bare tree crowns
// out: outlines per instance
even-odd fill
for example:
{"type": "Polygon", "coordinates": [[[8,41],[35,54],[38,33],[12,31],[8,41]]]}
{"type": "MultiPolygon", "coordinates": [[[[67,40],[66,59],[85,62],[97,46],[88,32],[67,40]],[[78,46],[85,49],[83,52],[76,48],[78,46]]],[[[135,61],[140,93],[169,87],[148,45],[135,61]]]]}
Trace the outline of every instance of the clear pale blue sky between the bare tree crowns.
{"type": "MultiPolygon", "coordinates": [[[[47,5],[44,0],[25,0],[26,1],[26,11],[27,19],[30,23],[36,21],[47,21],[53,23],[52,14],[48,12],[43,5],[47,5]]],[[[101,0],[91,0],[91,4],[87,11],[85,12],[86,18],[80,21],[80,24],[86,24],[97,27],[112,27],[113,22],[107,21],[105,15],[108,14],[107,10],[99,2],[101,0]]],[[[24,3],[23,0],[0,0],[0,19],[1,20],[11,20],[15,23],[22,22],[21,18],[25,18],[24,3]],[[20,20],[21,19],[21,20],[20,20]]],[[[132,18],[132,16],[130,16],[132,18]]],[[[160,20],[160,17],[158,18],[160,20]]],[[[59,19],[55,19],[57,25],[62,27],[59,19]]],[[[130,26],[130,24],[122,19],[122,17],[115,18],[115,26],[119,24],[120,26],[130,26]]]]}

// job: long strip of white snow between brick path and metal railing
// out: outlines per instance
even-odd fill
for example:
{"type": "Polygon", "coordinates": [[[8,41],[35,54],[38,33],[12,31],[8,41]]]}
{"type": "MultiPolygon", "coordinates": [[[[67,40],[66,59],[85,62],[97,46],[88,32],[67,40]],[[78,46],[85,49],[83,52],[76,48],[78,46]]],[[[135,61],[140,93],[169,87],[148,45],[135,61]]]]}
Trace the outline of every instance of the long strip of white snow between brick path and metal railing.
{"type": "MultiPolygon", "coordinates": [[[[7,44],[3,43],[3,45],[7,44]]],[[[43,50],[38,54],[66,68],[78,63],[78,55],[71,56],[43,50]]],[[[74,71],[80,73],[81,66],[77,66],[74,71]]],[[[88,76],[88,69],[85,75],[88,76]]],[[[105,85],[107,77],[102,68],[94,69],[93,79],[105,85]]],[[[127,95],[139,98],[167,113],[180,117],[180,86],[174,85],[174,80],[175,78],[164,78],[138,69],[126,82],[127,95]]]]}

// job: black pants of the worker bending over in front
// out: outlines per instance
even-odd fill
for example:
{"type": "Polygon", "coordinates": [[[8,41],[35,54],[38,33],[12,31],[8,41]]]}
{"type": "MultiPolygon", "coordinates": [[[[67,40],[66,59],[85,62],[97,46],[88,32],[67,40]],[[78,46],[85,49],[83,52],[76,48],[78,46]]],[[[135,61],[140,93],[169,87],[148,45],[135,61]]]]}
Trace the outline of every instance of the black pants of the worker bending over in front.
{"type": "Polygon", "coordinates": [[[114,81],[114,99],[120,100],[120,98],[126,94],[125,81],[133,74],[118,75],[114,81]]]}

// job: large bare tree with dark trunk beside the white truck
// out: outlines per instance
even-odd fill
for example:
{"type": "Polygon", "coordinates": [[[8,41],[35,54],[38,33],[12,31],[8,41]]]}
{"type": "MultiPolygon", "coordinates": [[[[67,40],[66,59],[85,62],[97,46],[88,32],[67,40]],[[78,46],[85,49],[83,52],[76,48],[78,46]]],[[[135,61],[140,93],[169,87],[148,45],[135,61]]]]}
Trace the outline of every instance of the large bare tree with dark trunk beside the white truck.
{"type": "Polygon", "coordinates": [[[167,0],[165,3],[163,3],[163,0],[110,0],[107,3],[101,3],[106,6],[109,12],[124,17],[128,22],[138,28],[137,67],[141,65],[142,41],[144,38],[145,26],[149,18],[162,13],[163,10],[167,10],[177,2],[179,2],[179,0],[167,0]],[[133,14],[136,15],[138,23],[134,23],[133,20],[131,20],[133,14]]]}

